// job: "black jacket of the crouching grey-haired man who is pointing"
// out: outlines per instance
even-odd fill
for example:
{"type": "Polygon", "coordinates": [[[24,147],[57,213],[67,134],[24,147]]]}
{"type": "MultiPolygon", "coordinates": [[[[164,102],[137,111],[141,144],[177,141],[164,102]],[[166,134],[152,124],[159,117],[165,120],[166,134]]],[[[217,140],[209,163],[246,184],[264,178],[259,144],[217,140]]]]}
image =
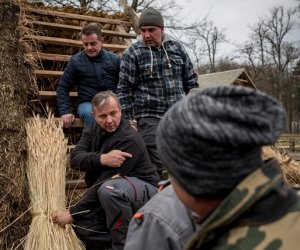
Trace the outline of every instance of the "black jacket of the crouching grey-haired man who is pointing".
{"type": "Polygon", "coordinates": [[[71,153],[70,165],[72,169],[86,172],[85,182],[89,187],[97,180],[103,181],[116,174],[137,177],[152,185],[159,181],[142,137],[125,120],[121,120],[114,133],[105,132],[97,123],[84,129],[71,153]],[[100,155],[114,149],[130,153],[132,158],[127,158],[119,168],[101,165],[100,155]]]}

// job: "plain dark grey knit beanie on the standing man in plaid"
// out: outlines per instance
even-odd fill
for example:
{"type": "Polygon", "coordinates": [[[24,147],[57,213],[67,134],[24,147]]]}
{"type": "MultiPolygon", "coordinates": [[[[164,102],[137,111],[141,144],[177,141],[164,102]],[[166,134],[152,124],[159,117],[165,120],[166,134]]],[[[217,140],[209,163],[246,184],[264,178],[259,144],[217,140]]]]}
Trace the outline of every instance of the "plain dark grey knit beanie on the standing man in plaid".
{"type": "Polygon", "coordinates": [[[140,15],[139,28],[142,26],[164,27],[164,19],[159,11],[149,7],[140,15]]]}

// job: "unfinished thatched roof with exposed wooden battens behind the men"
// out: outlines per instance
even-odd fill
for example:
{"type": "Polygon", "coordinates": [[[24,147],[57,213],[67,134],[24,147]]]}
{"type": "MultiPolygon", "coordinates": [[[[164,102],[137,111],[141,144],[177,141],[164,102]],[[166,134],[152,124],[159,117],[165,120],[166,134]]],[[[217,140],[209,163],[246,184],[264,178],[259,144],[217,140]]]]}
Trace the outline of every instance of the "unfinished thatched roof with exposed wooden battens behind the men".
{"type": "MultiPolygon", "coordinates": [[[[20,248],[31,219],[26,118],[32,113],[45,115],[46,107],[57,114],[57,84],[70,57],[82,49],[78,33],[88,22],[102,26],[104,48],[120,55],[136,37],[134,22],[125,12],[84,13],[21,0],[0,1],[0,250],[20,248]]],[[[70,95],[75,105],[76,89],[70,95]]],[[[72,143],[81,130],[72,127],[64,132],[72,143]]]]}

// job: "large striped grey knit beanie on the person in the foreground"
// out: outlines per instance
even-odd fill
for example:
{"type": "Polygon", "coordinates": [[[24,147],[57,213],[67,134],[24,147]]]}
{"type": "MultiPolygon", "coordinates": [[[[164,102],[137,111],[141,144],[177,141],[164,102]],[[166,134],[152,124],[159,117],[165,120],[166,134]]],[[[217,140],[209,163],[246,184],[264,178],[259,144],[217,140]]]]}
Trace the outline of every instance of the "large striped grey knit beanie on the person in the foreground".
{"type": "Polygon", "coordinates": [[[286,125],[271,96],[240,86],[208,88],[173,105],[157,129],[163,165],[187,193],[224,198],[262,163],[261,148],[286,125]]]}

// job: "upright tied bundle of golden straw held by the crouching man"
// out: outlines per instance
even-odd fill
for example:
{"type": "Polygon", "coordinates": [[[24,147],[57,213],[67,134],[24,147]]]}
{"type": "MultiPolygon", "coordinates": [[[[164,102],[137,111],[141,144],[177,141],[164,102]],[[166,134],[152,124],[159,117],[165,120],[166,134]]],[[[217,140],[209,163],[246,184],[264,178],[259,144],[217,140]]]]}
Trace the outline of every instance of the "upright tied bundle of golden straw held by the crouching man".
{"type": "Polygon", "coordinates": [[[53,115],[34,117],[27,122],[26,132],[32,223],[25,249],[84,249],[71,226],[62,228],[51,217],[53,211],[65,209],[67,140],[61,123],[53,115]]]}

